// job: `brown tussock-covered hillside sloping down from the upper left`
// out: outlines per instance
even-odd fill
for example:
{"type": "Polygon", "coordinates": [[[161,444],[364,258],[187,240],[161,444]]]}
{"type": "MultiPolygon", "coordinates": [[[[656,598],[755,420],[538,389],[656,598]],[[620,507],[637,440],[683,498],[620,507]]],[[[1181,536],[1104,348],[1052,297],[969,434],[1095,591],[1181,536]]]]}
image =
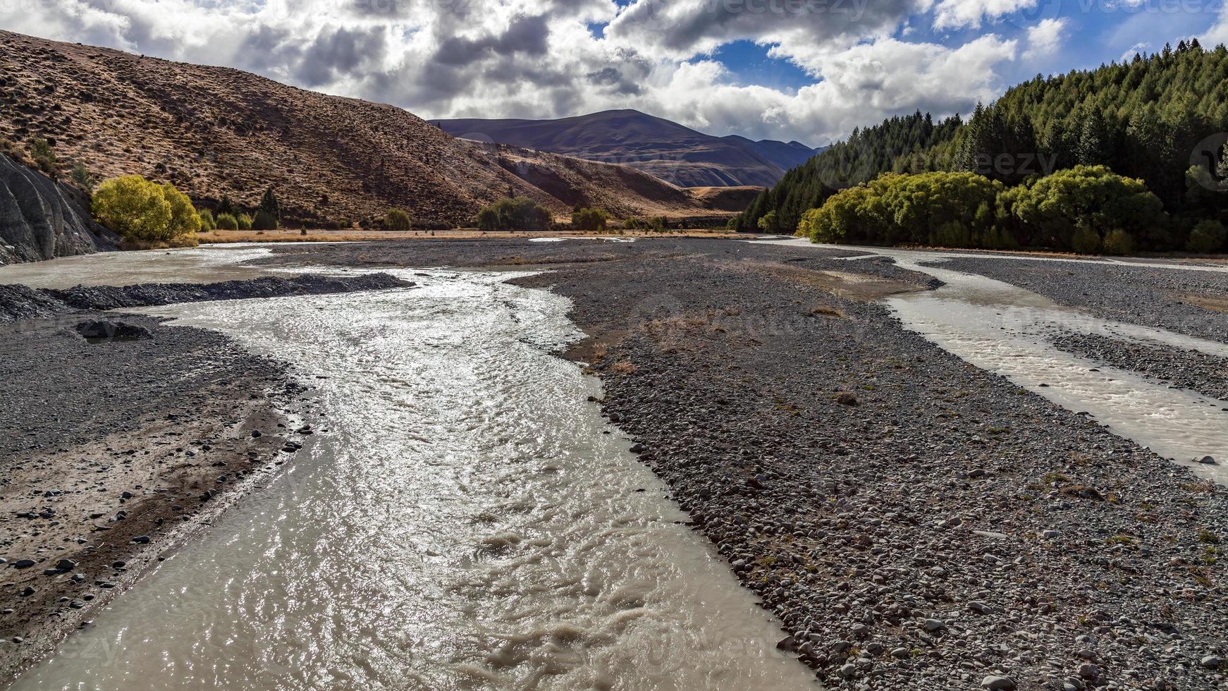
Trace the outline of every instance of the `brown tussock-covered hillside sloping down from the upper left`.
{"type": "Polygon", "coordinates": [[[0,31],[0,136],[52,141],[98,179],[171,180],[210,206],[274,187],[307,222],[373,221],[389,207],[459,225],[502,196],[565,215],[710,217],[686,190],[625,166],[454,139],[393,106],[252,74],[0,31]]]}

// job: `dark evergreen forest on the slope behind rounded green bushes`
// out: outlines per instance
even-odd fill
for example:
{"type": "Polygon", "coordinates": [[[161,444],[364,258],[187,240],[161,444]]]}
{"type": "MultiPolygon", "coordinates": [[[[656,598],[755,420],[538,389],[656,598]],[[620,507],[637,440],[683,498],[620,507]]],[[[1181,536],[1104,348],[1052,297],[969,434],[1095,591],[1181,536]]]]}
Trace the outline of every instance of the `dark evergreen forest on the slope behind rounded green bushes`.
{"type": "Polygon", "coordinates": [[[761,230],[792,232],[809,209],[882,173],[962,171],[1017,187],[1077,166],[1105,166],[1142,180],[1167,211],[1159,227],[1136,231],[1140,248],[1185,248],[1201,221],[1228,221],[1224,95],[1228,49],[1206,50],[1197,41],[1095,70],[1038,75],[977,106],[968,122],[935,123],[917,112],[857,130],[790,171],[732,225],[760,230],[775,211],[771,227],[761,230]]]}

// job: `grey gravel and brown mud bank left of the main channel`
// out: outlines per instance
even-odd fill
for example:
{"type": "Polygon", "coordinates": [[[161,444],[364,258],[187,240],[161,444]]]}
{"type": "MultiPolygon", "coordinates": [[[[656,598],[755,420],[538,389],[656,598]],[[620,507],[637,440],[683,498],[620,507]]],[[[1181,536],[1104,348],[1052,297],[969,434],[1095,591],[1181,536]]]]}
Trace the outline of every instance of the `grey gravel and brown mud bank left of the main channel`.
{"type": "Polygon", "coordinates": [[[99,308],[404,285],[368,275],[0,286],[49,306],[0,328],[0,684],[88,626],[312,433],[297,421],[309,417],[308,392],[282,362],[214,331],[99,308]]]}

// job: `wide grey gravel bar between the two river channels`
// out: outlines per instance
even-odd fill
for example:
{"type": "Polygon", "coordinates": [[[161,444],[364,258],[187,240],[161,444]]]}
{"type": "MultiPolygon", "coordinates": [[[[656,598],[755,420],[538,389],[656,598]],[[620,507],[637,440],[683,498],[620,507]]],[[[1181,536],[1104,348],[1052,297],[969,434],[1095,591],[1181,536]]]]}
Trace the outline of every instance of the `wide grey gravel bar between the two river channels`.
{"type": "Polygon", "coordinates": [[[927,277],[736,242],[526,244],[269,261],[550,269],[521,282],[573,301],[591,338],[570,355],[605,414],[830,686],[1228,682],[1228,493],[904,330],[871,302],[882,282],[841,274],[927,277]]]}

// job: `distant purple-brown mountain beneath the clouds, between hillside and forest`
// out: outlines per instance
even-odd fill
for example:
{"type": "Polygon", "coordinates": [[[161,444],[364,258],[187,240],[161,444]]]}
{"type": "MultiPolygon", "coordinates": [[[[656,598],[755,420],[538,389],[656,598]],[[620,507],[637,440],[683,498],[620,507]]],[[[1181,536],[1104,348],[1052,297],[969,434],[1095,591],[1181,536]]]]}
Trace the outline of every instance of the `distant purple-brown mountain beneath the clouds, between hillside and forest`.
{"type": "Polygon", "coordinates": [[[791,141],[712,136],[639,110],[605,110],[561,120],[431,120],[478,141],[621,163],[679,187],[774,185],[822,150],[791,141]]]}

